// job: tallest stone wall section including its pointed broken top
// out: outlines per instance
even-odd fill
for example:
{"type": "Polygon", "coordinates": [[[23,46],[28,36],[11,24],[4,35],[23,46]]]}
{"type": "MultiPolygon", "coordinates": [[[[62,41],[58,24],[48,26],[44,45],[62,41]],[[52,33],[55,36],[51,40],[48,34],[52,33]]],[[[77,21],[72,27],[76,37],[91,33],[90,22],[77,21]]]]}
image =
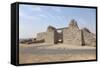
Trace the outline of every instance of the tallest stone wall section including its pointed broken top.
{"type": "Polygon", "coordinates": [[[63,29],[63,43],[70,45],[82,45],[81,30],[75,20],[72,20],[69,27],[63,29]]]}

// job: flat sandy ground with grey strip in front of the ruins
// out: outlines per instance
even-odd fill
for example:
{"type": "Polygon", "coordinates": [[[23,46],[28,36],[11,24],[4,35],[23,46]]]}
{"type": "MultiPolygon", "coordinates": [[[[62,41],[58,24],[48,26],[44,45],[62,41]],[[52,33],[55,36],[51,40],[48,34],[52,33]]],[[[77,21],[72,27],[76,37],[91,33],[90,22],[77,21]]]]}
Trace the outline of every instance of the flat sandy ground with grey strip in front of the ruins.
{"type": "Polygon", "coordinates": [[[96,47],[66,44],[19,44],[19,63],[96,59],[96,47]]]}

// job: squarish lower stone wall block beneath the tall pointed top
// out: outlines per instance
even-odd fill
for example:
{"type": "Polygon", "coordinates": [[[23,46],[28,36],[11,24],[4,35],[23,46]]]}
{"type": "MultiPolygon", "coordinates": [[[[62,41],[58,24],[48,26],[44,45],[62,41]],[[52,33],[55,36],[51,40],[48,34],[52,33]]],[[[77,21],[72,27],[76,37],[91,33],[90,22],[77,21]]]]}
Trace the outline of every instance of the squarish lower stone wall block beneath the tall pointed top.
{"type": "Polygon", "coordinates": [[[63,43],[82,45],[81,31],[79,29],[63,29],[63,43]]]}

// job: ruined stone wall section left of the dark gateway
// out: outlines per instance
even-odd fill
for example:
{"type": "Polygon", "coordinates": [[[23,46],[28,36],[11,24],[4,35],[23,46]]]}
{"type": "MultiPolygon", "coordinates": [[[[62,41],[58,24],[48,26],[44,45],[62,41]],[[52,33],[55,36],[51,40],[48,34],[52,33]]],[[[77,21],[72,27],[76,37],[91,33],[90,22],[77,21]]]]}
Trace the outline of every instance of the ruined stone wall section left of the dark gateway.
{"type": "Polygon", "coordinates": [[[45,43],[55,44],[57,42],[57,32],[56,29],[52,29],[54,27],[50,27],[46,32],[41,32],[37,34],[37,40],[44,39],[45,43]]]}

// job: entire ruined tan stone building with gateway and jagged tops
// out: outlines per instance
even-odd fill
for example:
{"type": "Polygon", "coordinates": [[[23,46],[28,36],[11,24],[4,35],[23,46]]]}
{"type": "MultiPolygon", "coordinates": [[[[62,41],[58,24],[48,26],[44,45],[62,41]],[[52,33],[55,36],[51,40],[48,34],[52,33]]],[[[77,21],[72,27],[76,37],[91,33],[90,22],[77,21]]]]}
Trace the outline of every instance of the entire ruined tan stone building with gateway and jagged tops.
{"type": "Polygon", "coordinates": [[[75,20],[71,20],[69,26],[65,28],[56,29],[53,26],[48,26],[47,31],[38,33],[35,40],[44,40],[45,43],[49,44],[96,45],[95,34],[87,28],[79,29],[75,20]]]}

